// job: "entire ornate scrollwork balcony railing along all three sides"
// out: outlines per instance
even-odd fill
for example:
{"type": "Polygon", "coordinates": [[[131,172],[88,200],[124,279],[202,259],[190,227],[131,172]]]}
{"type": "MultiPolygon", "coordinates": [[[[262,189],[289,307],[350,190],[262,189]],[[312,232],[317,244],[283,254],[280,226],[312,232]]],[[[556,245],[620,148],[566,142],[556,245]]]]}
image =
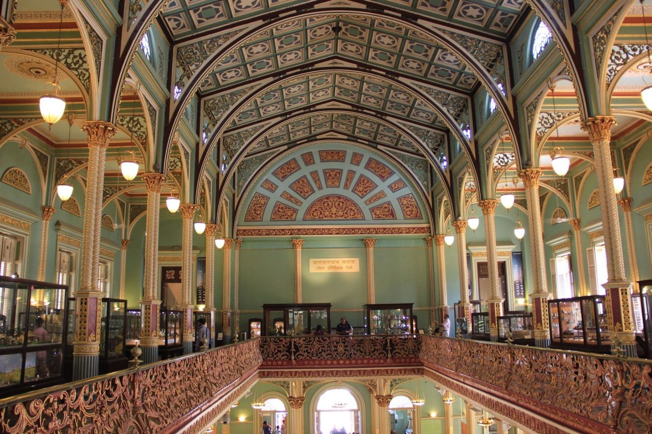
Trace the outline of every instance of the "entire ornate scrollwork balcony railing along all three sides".
{"type": "Polygon", "coordinates": [[[0,431],[149,433],[194,421],[190,431],[198,432],[259,369],[338,366],[424,367],[453,392],[479,390],[482,399],[509,403],[509,418],[537,414],[520,421],[533,431],[552,426],[542,420],[577,431],[652,429],[651,362],[417,335],[256,338],[3,399],[0,431]]]}

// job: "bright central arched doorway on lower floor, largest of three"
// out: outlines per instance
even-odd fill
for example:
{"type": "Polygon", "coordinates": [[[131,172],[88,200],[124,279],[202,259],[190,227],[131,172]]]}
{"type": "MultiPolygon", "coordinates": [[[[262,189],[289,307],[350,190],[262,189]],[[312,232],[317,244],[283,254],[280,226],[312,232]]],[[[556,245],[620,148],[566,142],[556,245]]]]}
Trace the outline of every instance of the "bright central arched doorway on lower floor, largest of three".
{"type": "Polygon", "coordinates": [[[316,434],[361,433],[361,411],[351,390],[338,384],[317,398],[314,412],[316,434]]]}

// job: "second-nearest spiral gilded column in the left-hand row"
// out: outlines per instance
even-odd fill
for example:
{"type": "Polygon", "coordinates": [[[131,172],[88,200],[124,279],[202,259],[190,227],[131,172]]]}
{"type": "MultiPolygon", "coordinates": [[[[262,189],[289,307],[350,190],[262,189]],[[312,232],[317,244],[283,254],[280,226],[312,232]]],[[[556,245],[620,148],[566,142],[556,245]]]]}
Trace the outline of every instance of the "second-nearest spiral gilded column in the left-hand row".
{"type": "Polygon", "coordinates": [[[145,173],[142,177],[147,190],[147,214],[145,214],[145,270],[143,275],[143,298],[140,300],[140,346],[143,362],[158,360],[158,321],[160,321],[160,289],[158,287],[158,217],[161,186],[165,176],[145,173]]]}

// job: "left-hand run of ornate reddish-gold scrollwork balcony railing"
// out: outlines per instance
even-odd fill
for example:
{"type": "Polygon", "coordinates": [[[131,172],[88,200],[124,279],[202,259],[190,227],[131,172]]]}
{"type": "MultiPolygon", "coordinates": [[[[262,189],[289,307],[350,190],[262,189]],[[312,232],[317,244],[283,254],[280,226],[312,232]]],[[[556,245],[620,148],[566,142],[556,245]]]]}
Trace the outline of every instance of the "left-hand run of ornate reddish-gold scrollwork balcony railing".
{"type": "Polygon", "coordinates": [[[3,399],[0,432],[173,432],[255,379],[261,361],[250,340],[3,399]]]}

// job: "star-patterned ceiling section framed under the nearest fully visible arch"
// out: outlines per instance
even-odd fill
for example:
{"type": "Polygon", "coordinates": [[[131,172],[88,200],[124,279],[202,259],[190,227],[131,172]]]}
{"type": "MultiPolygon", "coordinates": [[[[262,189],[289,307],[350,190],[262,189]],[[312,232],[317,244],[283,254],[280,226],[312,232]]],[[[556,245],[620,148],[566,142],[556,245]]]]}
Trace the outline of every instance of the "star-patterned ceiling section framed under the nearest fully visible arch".
{"type": "Polygon", "coordinates": [[[460,92],[477,83],[454,54],[424,35],[387,20],[333,14],[285,23],[248,41],[220,61],[200,91],[210,93],[334,55],[460,92]]]}

